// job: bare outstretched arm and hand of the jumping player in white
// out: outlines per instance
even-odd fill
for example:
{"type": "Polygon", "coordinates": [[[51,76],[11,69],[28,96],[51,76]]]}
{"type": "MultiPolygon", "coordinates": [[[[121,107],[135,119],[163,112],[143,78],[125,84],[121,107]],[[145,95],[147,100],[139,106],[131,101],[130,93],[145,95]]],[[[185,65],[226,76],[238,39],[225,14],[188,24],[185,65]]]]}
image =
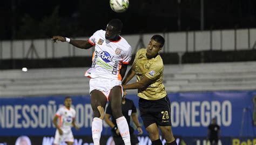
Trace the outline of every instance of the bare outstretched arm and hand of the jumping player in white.
{"type": "MultiPolygon", "coordinates": [[[[66,38],[62,36],[53,36],[51,38],[53,42],[56,42],[57,40],[60,42],[66,42],[66,38]]],[[[89,40],[72,40],[70,39],[70,44],[73,46],[78,47],[79,49],[90,49],[93,45],[89,43],[89,40]]]]}

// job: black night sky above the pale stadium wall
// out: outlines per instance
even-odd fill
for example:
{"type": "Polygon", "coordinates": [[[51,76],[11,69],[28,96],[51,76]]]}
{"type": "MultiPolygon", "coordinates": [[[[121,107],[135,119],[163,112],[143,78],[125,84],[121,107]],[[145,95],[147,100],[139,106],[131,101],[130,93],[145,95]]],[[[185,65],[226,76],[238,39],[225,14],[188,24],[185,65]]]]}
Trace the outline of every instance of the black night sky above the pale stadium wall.
{"type": "MultiPolygon", "coordinates": [[[[1,2],[0,13],[1,39],[89,36],[112,18],[122,20],[123,34],[201,29],[200,0],[130,0],[123,13],[113,12],[108,0],[10,0],[1,2]]],[[[204,30],[255,26],[255,0],[204,1],[204,30]]]]}

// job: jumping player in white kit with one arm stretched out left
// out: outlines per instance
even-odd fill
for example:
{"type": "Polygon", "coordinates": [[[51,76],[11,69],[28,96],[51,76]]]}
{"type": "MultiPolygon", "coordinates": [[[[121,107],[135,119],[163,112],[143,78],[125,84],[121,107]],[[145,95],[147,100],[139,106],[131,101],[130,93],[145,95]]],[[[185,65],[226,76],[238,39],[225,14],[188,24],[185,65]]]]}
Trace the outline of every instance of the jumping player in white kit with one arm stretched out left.
{"type": "Polygon", "coordinates": [[[68,42],[80,49],[95,46],[92,66],[85,76],[90,79],[91,106],[94,113],[92,121],[92,139],[99,144],[102,132],[104,109],[107,101],[116,118],[119,132],[125,144],[131,144],[129,126],[122,114],[122,78],[131,59],[132,48],[120,36],[123,23],[119,19],[110,20],[106,30],[96,31],[89,40],[72,40],[61,36],[53,36],[52,40],[68,42]]]}

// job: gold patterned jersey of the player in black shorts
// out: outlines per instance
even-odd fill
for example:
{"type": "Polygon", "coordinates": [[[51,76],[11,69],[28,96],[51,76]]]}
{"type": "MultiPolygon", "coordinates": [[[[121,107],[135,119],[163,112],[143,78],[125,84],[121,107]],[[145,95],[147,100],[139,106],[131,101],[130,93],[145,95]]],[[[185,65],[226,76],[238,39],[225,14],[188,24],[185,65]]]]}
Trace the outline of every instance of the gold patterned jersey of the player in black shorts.
{"type": "Polygon", "coordinates": [[[146,49],[140,49],[136,53],[133,65],[135,65],[137,81],[142,80],[144,76],[153,80],[152,84],[146,89],[138,89],[140,98],[158,100],[167,95],[163,84],[164,63],[160,55],[148,59],[146,49]]]}

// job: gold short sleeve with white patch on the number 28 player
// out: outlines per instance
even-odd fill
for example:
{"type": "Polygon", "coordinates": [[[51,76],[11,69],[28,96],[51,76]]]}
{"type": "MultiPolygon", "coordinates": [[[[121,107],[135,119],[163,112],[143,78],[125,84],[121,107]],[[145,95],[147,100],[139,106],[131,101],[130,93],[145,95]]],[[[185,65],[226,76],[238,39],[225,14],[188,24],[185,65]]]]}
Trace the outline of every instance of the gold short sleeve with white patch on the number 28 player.
{"type": "Polygon", "coordinates": [[[151,80],[155,80],[163,73],[164,66],[158,64],[152,64],[149,71],[145,73],[145,76],[151,80]]]}

